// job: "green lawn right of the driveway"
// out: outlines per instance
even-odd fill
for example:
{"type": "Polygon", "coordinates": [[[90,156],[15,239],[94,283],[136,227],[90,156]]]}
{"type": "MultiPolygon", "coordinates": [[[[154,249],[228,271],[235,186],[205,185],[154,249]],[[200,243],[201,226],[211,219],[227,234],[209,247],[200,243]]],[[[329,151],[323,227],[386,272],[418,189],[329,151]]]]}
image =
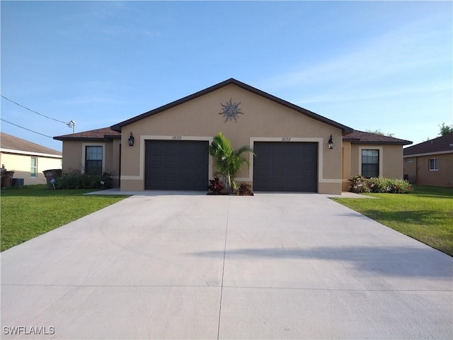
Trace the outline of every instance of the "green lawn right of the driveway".
{"type": "Polygon", "coordinates": [[[352,210],[453,256],[453,188],[415,186],[411,193],[335,198],[352,210]]]}

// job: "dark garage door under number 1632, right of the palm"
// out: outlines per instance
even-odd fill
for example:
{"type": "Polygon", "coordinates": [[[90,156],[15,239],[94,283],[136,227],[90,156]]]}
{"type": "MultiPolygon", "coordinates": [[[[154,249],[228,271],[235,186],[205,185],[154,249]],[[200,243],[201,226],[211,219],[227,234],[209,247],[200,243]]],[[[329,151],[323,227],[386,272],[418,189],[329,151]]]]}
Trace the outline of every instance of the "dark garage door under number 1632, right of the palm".
{"type": "Polygon", "coordinates": [[[253,190],[318,191],[318,143],[255,142],[253,190]]]}

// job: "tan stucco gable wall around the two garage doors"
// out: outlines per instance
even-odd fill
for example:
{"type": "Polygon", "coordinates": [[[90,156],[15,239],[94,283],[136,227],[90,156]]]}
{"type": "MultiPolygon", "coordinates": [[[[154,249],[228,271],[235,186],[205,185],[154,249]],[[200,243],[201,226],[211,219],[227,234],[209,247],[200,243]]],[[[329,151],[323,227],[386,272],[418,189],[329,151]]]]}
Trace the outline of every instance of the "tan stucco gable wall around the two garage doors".
{"type": "MultiPolygon", "coordinates": [[[[122,145],[125,147],[122,147],[122,190],[144,190],[144,140],[171,140],[177,136],[181,140],[210,141],[218,132],[228,137],[234,147],[253,147],[257,140],[318,142],[319,192],[341,191],[341,130],[234,84],[123,126],[122,145]],[[233,103],[241,103],[239,108],[243,114],[239,114],[237,123],[234,120],[225,121],[219,114],[222,112],[221,103],[230,99],[233,103]],[[134,147],[127,145],[130,132],[135,137],[134,147]],[[327,147],[331,134],[337,141],[334,149],[327,147]]],[[[210,174],[212,172],[211,168],[210,174]]],[[[243,169],[239,173],[239,180],[252,181],[253,168],[243,169]]]]}

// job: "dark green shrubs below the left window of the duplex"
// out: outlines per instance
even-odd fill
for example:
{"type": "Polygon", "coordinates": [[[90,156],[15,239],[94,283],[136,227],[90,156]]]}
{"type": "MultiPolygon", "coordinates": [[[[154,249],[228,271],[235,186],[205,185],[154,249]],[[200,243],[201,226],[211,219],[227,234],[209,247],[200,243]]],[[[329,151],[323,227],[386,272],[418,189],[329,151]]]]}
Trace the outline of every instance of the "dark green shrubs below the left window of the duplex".
{"type": "Polygon", "coordinates": [[[55,179],[56,189],[109,189],[112,188],[112,175],[108,172],[103,174],[88,175],[81,171],[69,171],[55,179]]]}

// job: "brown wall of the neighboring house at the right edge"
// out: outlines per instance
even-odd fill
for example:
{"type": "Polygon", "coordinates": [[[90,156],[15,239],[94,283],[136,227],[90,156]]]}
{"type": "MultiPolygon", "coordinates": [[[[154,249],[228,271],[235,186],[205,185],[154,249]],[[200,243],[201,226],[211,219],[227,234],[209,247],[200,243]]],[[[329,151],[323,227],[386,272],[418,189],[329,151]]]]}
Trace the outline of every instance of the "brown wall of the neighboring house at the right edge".
{"type": "Polygon", "coordinates": [[[406,157],[404,173],[409,175],[409,181],[420,186],[452,187],[453,153],[406,157]],[[437,170],[430,170],[430,159],[437,159],[437,170]]]}

